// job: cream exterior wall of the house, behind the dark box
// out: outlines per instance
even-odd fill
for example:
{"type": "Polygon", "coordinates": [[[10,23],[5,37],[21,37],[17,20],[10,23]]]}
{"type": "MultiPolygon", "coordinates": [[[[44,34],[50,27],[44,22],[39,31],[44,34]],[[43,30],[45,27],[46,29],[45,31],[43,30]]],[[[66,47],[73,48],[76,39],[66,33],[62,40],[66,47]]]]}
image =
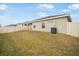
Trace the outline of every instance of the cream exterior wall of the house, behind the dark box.
{"type": "Polygon", "coordinates": [[[56,27],[58,33],[65,33],[67,32],[67,24],[62,24],[62,22],[68,22],[67,17],[32,23],[32,30],[51,32],[51,28],[56,27]],[[45,23],[45,28],[42,28],[42,23],[45,23]],[[33,27],[34,25],[36,26],[36,28],[33,27]],[[64,28],[62,28],[62,25],[64,28]]]}

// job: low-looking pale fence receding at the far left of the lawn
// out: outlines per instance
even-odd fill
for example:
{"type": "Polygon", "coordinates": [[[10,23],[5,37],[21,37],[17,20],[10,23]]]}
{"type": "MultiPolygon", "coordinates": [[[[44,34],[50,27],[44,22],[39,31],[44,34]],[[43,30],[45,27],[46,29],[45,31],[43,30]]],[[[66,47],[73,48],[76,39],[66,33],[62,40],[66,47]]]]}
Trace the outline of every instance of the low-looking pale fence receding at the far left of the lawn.
{"type": "Polygon", "coordinates": [[[15,31],[21,31],[21,30],[27,30],[27,27],[26,26],[1,27],[0,33],[15,32],[15,31]]]}

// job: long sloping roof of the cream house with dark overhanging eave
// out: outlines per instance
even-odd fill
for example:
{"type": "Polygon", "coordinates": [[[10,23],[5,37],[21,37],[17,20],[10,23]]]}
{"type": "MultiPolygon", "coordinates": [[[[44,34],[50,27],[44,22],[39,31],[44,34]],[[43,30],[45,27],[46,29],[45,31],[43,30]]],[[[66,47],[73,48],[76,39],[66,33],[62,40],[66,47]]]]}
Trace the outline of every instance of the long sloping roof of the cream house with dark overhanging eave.
{"type": "Polygon", "coordinates": [[[70,14],[62,14],[62,15],[54,15],[54,16],[43,17],[43,18],[40,18],[40,19],[35,19],[35,20],[29,21],[29,22],[24,22],[24,23],[28,24],[28,23],[38,22],[38,21],[49,20],[51,18],[55,19],[55,18],[61,18],[61,17],[67,17],[68,21],[72,22],[70,14]]]}

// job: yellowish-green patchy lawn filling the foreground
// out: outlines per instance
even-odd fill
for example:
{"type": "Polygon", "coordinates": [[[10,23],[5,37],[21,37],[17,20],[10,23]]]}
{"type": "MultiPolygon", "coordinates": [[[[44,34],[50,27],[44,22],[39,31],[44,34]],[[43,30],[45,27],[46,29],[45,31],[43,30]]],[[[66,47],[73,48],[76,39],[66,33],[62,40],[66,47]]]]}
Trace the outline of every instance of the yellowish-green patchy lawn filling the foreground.
{"type": "Polygon", "coordinates": [[[79,55],[79,38],[27,31],[0,34],[0,55],[79,55]]]}

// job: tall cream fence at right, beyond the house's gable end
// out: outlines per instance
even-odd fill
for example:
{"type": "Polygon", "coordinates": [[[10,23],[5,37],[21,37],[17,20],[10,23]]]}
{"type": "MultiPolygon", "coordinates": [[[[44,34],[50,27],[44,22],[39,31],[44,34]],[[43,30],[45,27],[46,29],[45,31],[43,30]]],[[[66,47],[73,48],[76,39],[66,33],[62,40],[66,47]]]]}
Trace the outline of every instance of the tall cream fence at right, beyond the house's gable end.
{"type": "Polygon", "coordinates": [[[79,22],[68,22],[67,34],[79,37],[79,22]]]}

